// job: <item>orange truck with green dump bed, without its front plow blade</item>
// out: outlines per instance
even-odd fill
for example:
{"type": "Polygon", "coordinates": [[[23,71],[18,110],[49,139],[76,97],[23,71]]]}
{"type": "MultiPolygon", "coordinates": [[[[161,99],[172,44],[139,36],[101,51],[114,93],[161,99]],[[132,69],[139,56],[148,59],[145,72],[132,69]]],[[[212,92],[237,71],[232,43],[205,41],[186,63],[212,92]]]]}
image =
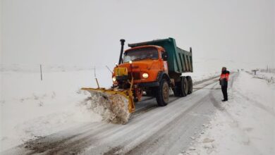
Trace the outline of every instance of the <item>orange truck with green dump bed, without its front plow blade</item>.
{"type": "Polygon", "coordinates": [[[128,44],[123,53],[125,40],[121,39],[121,54],[112,75],[113,88],[133,89],[134,101],[140,101],[143,92],[156,97],[159,106],[169,103],[169,90],[177,97],[192,93],[190,76],[193,72],[192,49],[184,51],[176,47],[173,38],[128,44]],[[131,86],[132,84],[132,86],[131,86]]]}

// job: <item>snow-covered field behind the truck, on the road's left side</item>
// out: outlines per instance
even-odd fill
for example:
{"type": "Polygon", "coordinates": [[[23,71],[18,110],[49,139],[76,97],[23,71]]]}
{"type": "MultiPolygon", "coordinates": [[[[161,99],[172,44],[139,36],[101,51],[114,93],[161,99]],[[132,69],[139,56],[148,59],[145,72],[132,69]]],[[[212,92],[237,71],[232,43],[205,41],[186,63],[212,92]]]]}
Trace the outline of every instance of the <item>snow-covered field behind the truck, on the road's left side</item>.
{"type": "MultiPolygon", "coordinates": [[[[96,87],[94,70],[87,66],[1,65],[1,144],[4,151],[27,140],[82,123],[101,121],[87,104],[90,94],[81,87],[96,87]]],[[[111,86],[111,74],[105,66],[97,66],[101,87],[111,86]]],[[[191,73],[200,81],[219,73],[191,73]]]]}

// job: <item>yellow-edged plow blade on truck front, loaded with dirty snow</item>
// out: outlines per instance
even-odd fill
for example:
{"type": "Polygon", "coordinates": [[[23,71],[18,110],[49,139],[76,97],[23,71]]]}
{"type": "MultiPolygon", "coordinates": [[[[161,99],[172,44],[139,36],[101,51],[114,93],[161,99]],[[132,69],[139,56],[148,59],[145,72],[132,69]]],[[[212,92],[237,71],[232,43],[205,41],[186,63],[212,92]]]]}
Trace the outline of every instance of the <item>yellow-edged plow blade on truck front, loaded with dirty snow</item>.
{"type": "Polygon", "coordinates": [[[82,88],[90,92],[94,112],[109,123],[126,124],[135,111],[133,92],[130,89],[82,88]]]}

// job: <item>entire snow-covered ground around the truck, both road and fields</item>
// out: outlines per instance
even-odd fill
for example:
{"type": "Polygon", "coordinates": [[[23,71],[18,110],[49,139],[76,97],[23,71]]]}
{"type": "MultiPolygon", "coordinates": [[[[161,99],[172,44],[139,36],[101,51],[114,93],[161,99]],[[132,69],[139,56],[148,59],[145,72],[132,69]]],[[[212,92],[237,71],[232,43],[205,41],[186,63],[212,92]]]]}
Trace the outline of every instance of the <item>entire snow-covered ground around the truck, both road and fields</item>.
{"type": "MultiPolygon", "coordinates": [[[[154,99],[145,99],[141,105],[137,104],[138,111],[130,123],[120,126],[108,125],[110,121],[106,120],[112,114],[93,103],[89,92],[80,90],[82,86],[97,87],[93,68],[43,68],[41,80],[37,66],[1,66],[1,151],[4,154],[25,154],[25,148],[34,154],[44,151],[65,154],[70,150],[83,154],[275,153],[273,70],[262,70],[256,75],[245,70],[232,72],[226,102],[221,101],[218,72],[192,73],[195,92],[190,97],[172,97],[171,104],[164,109],[155,109],[154,99]],[[140,111],[139,106],[143,104],[149,106],[140,111]],[[173,111],[173,115],[168,111],[173,111]],[[121,139],[127,136],[128,130],[135,134],[121,139]],[[77,136],[84,131],[84,135],[77,136]],[[71,146],[70,141],[66,142],[71,135],[75,137],[72,144],[82,139],[83,144],[71,146]],[[99,140],[102,146],[94,146],[96,143],[92,143],[90,135],[102,137],[99,140]],[[119,140],[117,145],[114,140],[119,140]],[[165,147],[166,144],[170,147],[165,147]]],[[[106,68],[97,68],[99,85],[111,85],[110,78],[102,76],[109,74],[106,68]]]]}

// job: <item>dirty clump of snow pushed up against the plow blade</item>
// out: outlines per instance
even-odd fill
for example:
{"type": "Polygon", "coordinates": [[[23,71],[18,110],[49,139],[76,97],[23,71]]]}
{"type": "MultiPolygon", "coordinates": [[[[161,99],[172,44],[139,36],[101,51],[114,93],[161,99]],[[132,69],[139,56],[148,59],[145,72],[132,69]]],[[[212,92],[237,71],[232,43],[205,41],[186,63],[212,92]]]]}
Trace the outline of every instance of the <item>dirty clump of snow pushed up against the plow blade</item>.
{"type": "Polygon", "coordinates": [[[130,118],[128,111],[128,99],[120,94],[108,94],[104,92],[89,91],[91,97],[85,99],[87,109],[102,116],[102,120],[108,123],[126,124],[130,118]]]}

